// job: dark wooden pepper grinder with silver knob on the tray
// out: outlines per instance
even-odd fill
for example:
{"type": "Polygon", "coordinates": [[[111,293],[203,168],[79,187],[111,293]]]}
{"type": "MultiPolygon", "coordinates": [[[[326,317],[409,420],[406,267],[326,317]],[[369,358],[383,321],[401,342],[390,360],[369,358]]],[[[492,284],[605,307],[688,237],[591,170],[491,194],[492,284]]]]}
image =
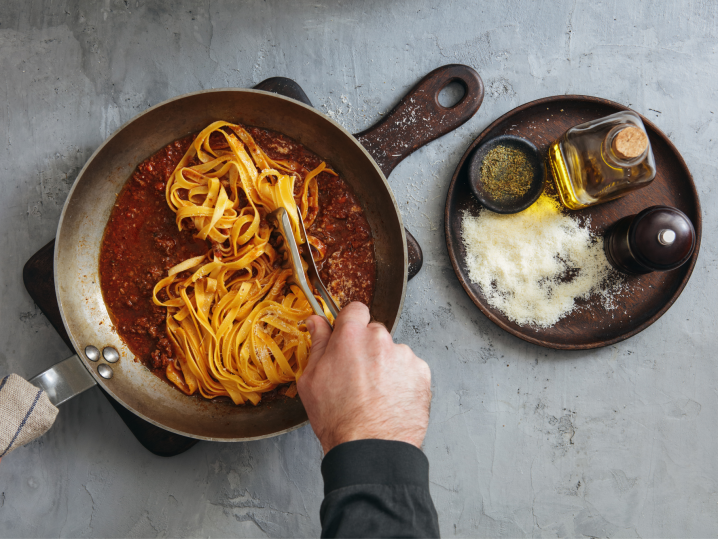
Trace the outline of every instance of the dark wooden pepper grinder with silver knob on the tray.
{"type": "Polygon", "coordinates": [[[611,265],[630,275],[676,269],[688,261],[695,246],[690,219],[670,206],[651,206],[620,219],[603,243],[611,265]]]}

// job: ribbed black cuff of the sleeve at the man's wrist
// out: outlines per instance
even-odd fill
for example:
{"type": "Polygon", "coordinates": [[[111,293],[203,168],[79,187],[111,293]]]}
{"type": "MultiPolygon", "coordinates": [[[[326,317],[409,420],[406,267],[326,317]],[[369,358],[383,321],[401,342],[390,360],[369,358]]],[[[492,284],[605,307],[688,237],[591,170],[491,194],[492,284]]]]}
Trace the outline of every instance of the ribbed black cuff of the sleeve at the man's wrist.
{"type": "Polygon", "coordinates": [[[421,449],[392,440],[339,444],[322,461],[324,495],[354,485],[411,485],[429,490],[429,460],[421,449]]]}

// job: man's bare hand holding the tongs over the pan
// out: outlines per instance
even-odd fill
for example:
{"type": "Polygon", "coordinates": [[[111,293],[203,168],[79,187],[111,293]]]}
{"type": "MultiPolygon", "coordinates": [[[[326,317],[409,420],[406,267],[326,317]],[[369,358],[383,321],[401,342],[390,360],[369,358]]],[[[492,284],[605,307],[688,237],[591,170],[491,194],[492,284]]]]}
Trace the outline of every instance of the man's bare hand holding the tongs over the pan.
{"type": "Polygon", "coordinates": [[[358,302],[339,313],[333,333],[319,316],[307,319],[312,351],[297,388],[325,454],[352,440],[397,440],[418,448],[424,441],[429,366],[369,320],[369,309],[358,302]]]}

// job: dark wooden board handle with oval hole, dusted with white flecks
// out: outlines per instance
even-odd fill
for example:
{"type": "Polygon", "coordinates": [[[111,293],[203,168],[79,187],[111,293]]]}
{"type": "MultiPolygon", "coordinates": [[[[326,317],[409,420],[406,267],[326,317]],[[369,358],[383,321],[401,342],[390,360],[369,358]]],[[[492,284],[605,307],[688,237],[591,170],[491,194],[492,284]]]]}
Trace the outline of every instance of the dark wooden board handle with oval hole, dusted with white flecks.
{"type": "Polygon", "coordinates": [[[484,83],[475,69],[445,65],[421,79],[378,123],[354,136],[389,176],[408,155],[466,123],[483,100],[484,83]],[[452,82],[464,87],[464,96],[446,108],[439,93],[452,82]]]}

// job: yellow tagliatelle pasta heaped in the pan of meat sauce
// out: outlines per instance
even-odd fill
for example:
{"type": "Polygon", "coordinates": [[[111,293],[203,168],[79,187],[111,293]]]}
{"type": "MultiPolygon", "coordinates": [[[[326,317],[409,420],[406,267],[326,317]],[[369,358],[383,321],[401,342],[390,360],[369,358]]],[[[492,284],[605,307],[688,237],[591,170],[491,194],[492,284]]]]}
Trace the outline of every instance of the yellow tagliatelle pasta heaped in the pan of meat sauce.
{"type": "MultiPolygon", "coordinates": [[[[153,290],[155,304],[167,309],[178,356],[166,375],[186,394],[258,404],[262,393],[301,376],[311,347],[302,322],[312,310],[291,284],[291,270],[281,268],[265,217],[285,208],[303,243],[298,215],[309,229],[323,171],[334,174],[324,163],[306,171],[270,159],[245,129],[228,122],[204,129],[175,168],[166,199],[177,226],[212,245],[170,268],[153,290]]],[[[321,259],[326,246],[307,240],[321,259]]],[[[331,320],[325,305],[324,311],[331,320]]],[[[296,394],[296,386],[287,394],[296,394]]]]}

